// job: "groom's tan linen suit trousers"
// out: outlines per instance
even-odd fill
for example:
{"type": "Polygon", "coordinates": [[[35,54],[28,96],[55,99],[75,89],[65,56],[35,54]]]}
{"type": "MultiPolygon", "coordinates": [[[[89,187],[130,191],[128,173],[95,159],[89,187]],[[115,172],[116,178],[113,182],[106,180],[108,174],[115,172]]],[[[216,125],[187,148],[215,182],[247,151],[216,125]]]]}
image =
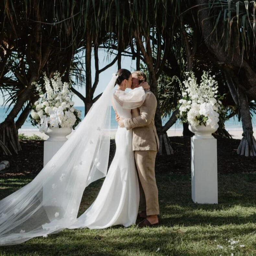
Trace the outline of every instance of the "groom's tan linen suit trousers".
{"type": "Polygon", "coordinates": [[[157,151],[135,150],[134,157],[139,180],[140,208],[147,215],[158,215],[158,190],[155,178],[157,151]]]}

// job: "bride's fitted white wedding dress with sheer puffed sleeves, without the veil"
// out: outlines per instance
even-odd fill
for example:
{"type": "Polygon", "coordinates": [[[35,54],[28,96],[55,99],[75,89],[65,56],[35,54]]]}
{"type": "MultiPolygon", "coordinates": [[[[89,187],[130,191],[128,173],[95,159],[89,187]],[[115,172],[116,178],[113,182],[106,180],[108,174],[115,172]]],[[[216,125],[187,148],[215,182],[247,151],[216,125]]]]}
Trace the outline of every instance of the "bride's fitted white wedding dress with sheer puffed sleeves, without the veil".
{"type": "MultiPolygon", "coordinates": [[[[114,107],[123,118],[131,118],[131,109],[142,105],[145,100],[142,87],[131,93],[118,89],[115,95],[122,106],[113,97],[114,107]]],[[[116,153],[100,192],[93,204],[70,228],[98,229],[135,224],[139,207],[139,183],[132,140],[132,130],[118,127],[115,136],[116,153]]]]}

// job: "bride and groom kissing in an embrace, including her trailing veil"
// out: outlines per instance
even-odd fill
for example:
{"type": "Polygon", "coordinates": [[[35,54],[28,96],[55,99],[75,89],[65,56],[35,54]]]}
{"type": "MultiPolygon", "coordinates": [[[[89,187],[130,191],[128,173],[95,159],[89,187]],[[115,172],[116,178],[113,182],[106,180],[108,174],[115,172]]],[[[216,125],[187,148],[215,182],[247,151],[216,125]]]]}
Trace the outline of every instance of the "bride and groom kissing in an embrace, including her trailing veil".
{"type": "Polygon", "coordinates": [[[131,74],[120,69],[112,76],[76,132],[41,172],[0,201],[0,245],[47,237],[64,228],[129,227],[135,223],[150,227],[159,223],[157,100],[148,89],[141,71],[131,74]],[[126,88],[132,90],[126,92],[126,88]],[[119,127],[116,153],[108,169],[111,106],[119,127]],[[85,187],[105,176],[97,198],[77,218],[85,187]]]}

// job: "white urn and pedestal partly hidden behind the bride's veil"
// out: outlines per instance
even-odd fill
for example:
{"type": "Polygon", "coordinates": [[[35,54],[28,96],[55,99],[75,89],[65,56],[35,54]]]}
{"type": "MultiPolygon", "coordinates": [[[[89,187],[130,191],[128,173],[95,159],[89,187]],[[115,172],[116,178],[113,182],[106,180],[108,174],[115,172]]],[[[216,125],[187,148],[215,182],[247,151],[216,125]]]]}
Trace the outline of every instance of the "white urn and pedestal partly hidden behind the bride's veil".
{"type": "Polygon", "coordinates": [[[49,127],[45,133],[49,138],[44,142],[43,166],[45,166],[62,145],[67,141],[66,136],[71,134],[72,127],[49,127]]]}

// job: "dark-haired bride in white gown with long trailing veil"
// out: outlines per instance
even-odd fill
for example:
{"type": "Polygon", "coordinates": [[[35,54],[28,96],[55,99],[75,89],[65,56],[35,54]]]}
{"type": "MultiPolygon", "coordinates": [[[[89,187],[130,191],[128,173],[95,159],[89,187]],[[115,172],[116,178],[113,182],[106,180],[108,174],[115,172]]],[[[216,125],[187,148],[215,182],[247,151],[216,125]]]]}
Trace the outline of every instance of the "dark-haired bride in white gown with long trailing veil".
{"type": "Polygon", "coordinates": [[[0,245],[47,237],[64,228],[97,229],[135,224],[139,185],[132,130],[118,127],[116,153],[107,174],[111,105],[119,116],[131,118],[131,109],[143,104],[143,87],[148,88],[148,84],[130,93],[125,92],[126,87],[132,87],[132,75],[120,69],[76,127],[76,132],[34,180],[0,201],[0,245]],[[105,176],[96,200],[76,218],[84,189],[105,176]]]}

